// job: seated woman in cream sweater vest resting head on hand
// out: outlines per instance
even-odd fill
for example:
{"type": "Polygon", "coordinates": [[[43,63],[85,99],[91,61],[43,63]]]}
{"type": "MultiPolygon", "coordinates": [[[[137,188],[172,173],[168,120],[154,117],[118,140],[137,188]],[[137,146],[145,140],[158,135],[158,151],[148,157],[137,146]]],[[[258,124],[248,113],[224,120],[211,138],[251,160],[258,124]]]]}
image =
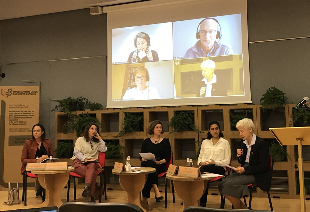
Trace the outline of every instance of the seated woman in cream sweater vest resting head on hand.
{"type": "Polygon", "coordinates": [[[75,173],[85,177],[85,187],[82,193],[82,197],[89,197],[88,202],[96,202],[94,197],[95,183],[97,178],[97,161],[100,152],[107,151],[105,142],[101,139],[99,134],[99,126],[96,123],[89,123],[83,133],[82,137],[79,137],[74,145],[74,152],[72,167],[74,167],[75,173]],[[85,163],[87,162],[87,163],[85,163]]]}

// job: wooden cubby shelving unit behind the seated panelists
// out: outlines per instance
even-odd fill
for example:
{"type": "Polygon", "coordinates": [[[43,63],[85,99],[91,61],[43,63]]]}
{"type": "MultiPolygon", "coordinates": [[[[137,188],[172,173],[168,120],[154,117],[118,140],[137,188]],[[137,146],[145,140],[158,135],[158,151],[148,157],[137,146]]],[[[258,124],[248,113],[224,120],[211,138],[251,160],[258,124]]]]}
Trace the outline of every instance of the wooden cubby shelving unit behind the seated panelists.
{"type": "MultiPolygon", "coordinates": [[[[145,138],[150,137],[147,134],[148,123],[153,120],[161,120],[164,124],[164,133],[162,137],[169,139],[171,150],[173,152],[173,164],[177,166],[185,166],[186,158],[195,158],[196,152],[198,151],[198,145],[194,143],[197,140],[204,140],[206,138],[208,124],[210,121],[219,121],[221,130],[224,134],[224,138],[227,139],[231,145],[232,154],[232,166],[238,167],[236,149],[237,142],[242,141],[239,136],[239,132],[233,130],[230,126],[230,115],[228,111],[232,113],[245,112],[253,119],[255,124],[254,133],[265,139],[268,145],[275,138],[269,132],[268,125],[270,127],[290,127],[292,119],[290,118],[293,113],[293,108],[295,105],[288,104],[284,108],[277,111],[277,114],[266,114],[260,108],[260,105],[247,105],[247,104],[236,104],[236,105],[209,105],[209,106],[174,106],[174,107],[154,107],[154,108],[131,108],[131,109],[108,109],[99,111],[77,111],[76,114],[89,113],[91,116],[95,116],[101,123],[100,135],[104,140],[115,140],[113,137],[122,130],[122,123],[124,122],[125,113],[142,113],[144,117],[143,131],[128,133],[123,137],[117,138],[119,143],[124,146],[122,150],[123,158],[119,162],[125,162],[127,155],[131,156],[132,166],[140,166],[141,162],[139,160],[139,151],[141,149],[142,142],[145,138]],[[197,133],[193,131],[175,132],[169,134],[172,130],[171,127],[167,127],[166,124],[170,122],[171,117],[176,111],[192,111],[194,114],[196,127],[203,133],[197,133]],[[267,117],[267,118],[266,118],[267,117]],[[279,121],[277,121],[279,119],[279,121]],[[267,122],[264,122],[267,120],[267,122]],[[284,125],[285,123],[285,125],[284,125]]],[[[77,136],[75,132],[70,132],[64,134],[62,132],[62,126],[69,120],[69,117],[62,113],[55,113],[55,148],[57,148],[58,140],[73,140],[75,143],[77,136]]],[[[289,157],[285,158],[281,162],[275,162],[273,173],[272,173],[272,188],[270,194],[272,197],[280,198],[293,198],[299,199],[299,194],[296,191],[296,182],[298,182],[298,168],[295,169],[294,165],[298,164],[295,160],[298,157],[298,151],[294,149],[294,146],[286,146],[286,151],[289,157]]],[[[304,149],[309,149],[310,146],[304,149]]],[[[113,189],[121,189],[118,184],[118,178],[113,176],[110,171],[114,165],[113,160],[106,160],[106,172],[108,180],[108,187],[113,189]]],[[[193,161],[194,166],[197,166],[197,161],[193,161]]],[[[305,181],[308,179],[310,173],[310,155],[308,152],[304,152],[304,171],[305,171],[305,181]]],[[[210,188],[212,193],[218,193],[215,188],[210,188]]],[[[253,194],[254,197],[267,197],[267,193],[257,189],[253,194]]],[[[310,195],[306,195],[310,198],[310,195]]]]}

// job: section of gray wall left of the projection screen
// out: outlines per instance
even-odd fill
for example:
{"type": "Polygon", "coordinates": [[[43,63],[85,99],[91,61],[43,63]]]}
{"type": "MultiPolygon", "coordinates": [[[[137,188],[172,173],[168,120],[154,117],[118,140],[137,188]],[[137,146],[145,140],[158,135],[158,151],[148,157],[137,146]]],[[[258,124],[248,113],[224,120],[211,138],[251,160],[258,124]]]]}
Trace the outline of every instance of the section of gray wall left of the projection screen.
{"type": "Polygon", "coordinates": [[[40,82],[40,122],[51,141],[56,103],[49,99],[83,96],[106,106],[106,24],[105,14],[89,9],[0,21],[0,85],[40,82]]]}

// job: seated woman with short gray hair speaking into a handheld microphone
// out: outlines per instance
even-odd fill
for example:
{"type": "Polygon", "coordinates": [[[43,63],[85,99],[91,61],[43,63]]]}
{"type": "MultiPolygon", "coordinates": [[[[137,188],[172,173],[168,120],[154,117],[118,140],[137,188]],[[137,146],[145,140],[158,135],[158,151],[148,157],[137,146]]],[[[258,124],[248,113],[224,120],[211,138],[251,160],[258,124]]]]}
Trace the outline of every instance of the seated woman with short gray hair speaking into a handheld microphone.
{"type": "Polygon", "coordinates": [[[241,149],[237,149],[241,166],[235,168],[234,173],[219,183],[219,192],[235,209],[247,209],[240,198],[249,195],[248,184],[257,183],[263,191],[270,189],[270,156],[266,142],[254,134],[255,125],[251,119],[238,121],[236,127],[243,139],[241,149]]]}

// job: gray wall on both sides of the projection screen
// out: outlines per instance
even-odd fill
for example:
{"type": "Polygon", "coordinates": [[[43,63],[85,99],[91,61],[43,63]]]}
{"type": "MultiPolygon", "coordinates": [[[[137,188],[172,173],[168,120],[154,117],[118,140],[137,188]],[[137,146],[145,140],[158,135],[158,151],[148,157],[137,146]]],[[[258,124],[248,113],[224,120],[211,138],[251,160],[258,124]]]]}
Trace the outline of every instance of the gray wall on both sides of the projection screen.
{"type": "MultiPolygon", "coordinates": [[[[249,42],[310,36],[309,0],[248,0],[249,42]]],[[[106,106],[106,15],[89,9],[0,21],[1,86],[41,82],[40,121],[54,140],[49,99],[83,96],[106,106]],[[73,59],[76,58],[76,59],[73,59]]],[[[310,38],[249,44],[254,104],[268,89],[310,96],[310,38]]]]}

